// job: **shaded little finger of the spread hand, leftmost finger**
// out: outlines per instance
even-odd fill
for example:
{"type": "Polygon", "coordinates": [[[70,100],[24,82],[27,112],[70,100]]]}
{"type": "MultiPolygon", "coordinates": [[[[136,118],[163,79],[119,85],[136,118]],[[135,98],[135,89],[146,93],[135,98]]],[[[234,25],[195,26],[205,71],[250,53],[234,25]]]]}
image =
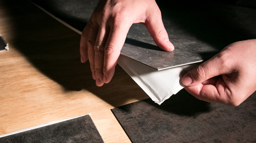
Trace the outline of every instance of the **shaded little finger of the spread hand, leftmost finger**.
{"type": "Polygon", "coordinates": [[[83,32],[81,34],[80,39],[80,58],[81,62],[85,63],[88,60],[88,46],[87,46],[87,40],[88,35],[91,33],[92,29],[92,21],[89,20],[89,22],[86,24],[85,28],[83,29],[83,32]]]}

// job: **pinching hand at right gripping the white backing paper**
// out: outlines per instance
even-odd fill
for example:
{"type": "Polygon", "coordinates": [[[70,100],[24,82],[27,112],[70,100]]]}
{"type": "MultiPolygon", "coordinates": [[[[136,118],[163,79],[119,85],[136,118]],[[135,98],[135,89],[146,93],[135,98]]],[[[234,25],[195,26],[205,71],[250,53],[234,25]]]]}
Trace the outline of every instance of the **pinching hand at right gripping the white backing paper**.
{"type": "Polygon", "coordinates": [[[200,100],[238,106],[256,90],[256,39],[238,41],[182,77],[200,100]]]}

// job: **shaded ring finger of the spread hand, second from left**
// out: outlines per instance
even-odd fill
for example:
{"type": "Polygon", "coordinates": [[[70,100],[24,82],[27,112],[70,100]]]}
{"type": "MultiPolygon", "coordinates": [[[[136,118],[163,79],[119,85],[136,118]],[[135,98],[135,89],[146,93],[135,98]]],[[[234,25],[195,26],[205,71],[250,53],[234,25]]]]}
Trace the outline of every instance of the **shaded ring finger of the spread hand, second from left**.
{"type": "Polygon", "coordinates": [[[94,52],[94,45],[95,45],[95,41],[97,38],[97,33],[98,33],[98,25],[95,24],[93,25],[93,28],[91,30],[91,32],[89,33],[89,37],[88,37],[88,41],[87,41],[87,46],[88,46],[88,59],[90,62],[90,68],[92,71],[92,77],[95,80],[95,62],[94,62],[94,56],[95,56],[95,52],[94,52]]]}

